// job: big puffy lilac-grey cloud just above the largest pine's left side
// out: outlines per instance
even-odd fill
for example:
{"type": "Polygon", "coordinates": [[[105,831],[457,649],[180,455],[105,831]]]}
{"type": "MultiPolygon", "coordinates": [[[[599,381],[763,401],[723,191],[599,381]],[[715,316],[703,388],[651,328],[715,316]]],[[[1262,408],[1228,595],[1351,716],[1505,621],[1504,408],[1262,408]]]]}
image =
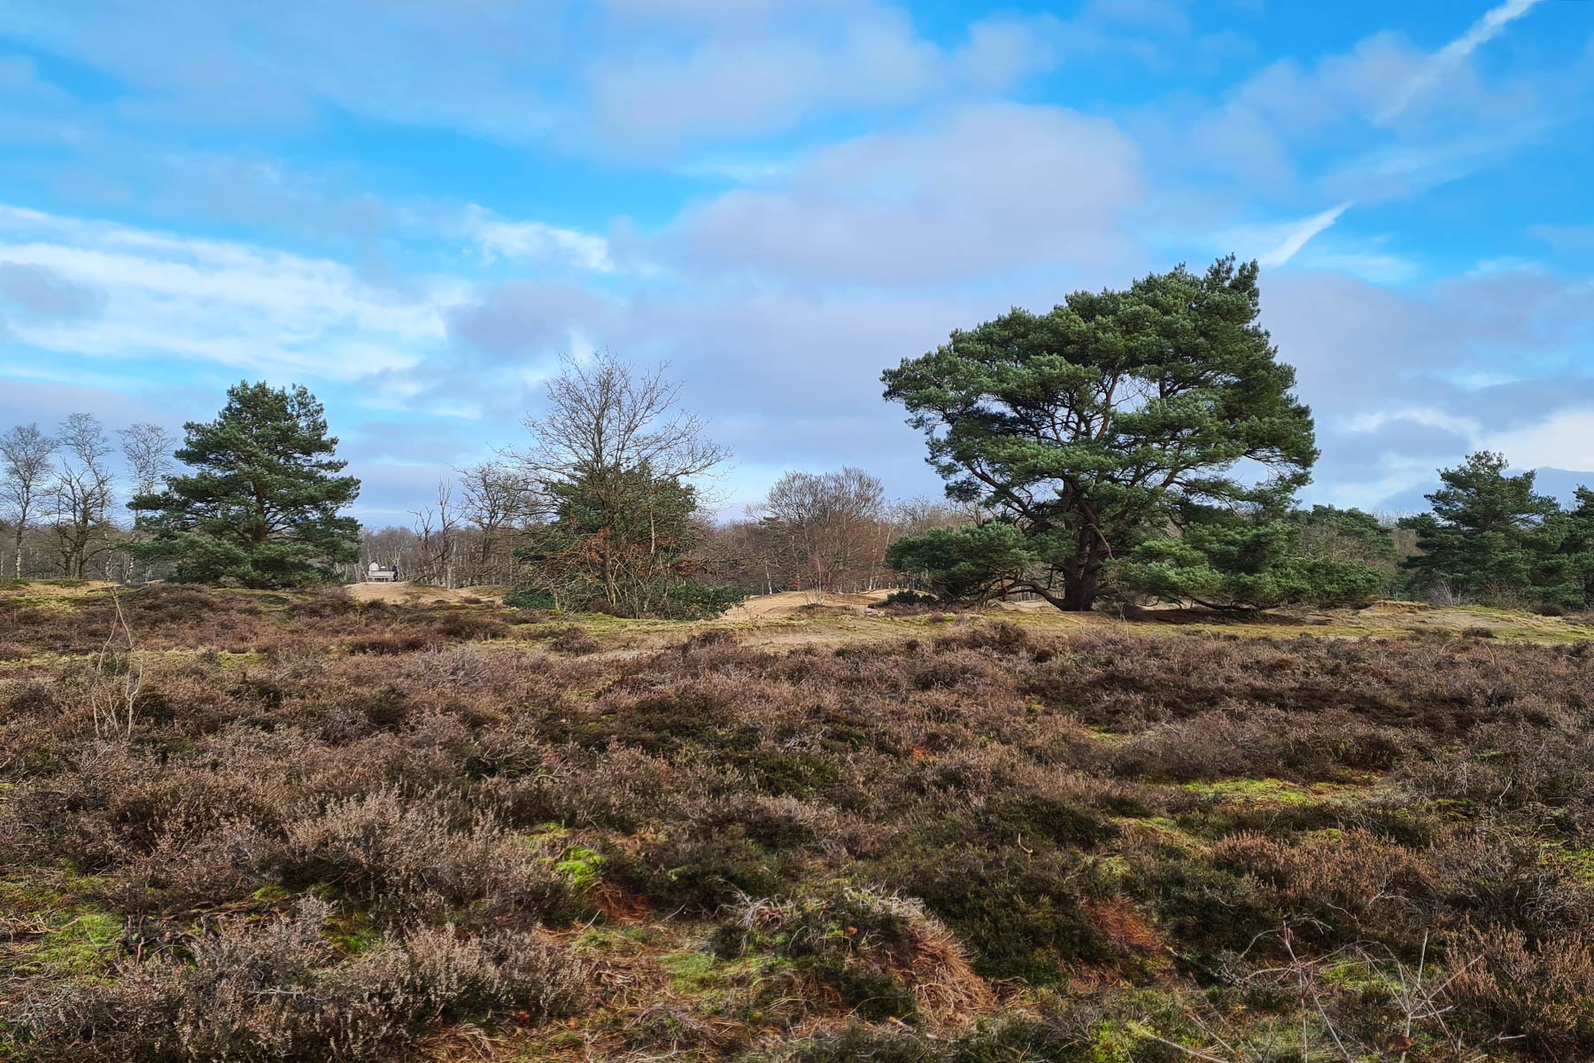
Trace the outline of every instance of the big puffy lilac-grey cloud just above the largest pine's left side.
{"type": "Polygon", "coordinates": [[[663,244],[708,273],[913,284],[1121,263],[1135,145],[1054,107],[976,105],[799,159],[684,214],[663,244]]]}

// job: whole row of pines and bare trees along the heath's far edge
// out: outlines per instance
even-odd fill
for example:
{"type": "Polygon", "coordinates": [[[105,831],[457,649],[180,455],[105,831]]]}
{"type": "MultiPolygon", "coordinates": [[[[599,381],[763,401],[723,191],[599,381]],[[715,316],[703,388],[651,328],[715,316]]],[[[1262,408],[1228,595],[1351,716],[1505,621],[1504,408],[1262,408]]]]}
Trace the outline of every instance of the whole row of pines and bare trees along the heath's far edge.
{"type": "Polygon", "coordinates": [[[180,448],[89,414],[0,437],[13,575],[292,586],[370,563],[508,601],[701,617],[746,594],[907,586],[1058,609],[1355,606],[1422,596],[1594,607],[1594,492],[1572,508],[1479,453],[1396,521],[1298,494],[1317,462],[1294,370],[1258,325],[1256,263],[1180,266],[953,331],[881,379],[923,430],[945,502],[886,502],[861,469],[791,472],[746,516],[703,494],[728,451],[681,384],[609,354],[566,359],[528,441],[438,484],[408,528],[343,516],[359,481],[303,387],[238,384],[180,448]]]}

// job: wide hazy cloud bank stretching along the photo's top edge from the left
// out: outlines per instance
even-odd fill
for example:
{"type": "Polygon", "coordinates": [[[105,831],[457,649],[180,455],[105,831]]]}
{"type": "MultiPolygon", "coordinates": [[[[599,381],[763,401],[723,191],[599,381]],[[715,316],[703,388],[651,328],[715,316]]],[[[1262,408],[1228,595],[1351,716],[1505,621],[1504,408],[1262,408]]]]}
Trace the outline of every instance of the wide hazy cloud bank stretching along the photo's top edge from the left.
{"type": "Polygon", "coordinates": [[[330,105],[606,155],[1001,91],[1050,65],[1058,37],[1004,18],[942,43],[889,0],[595,6],[18,0],[5,29],[116,78],[118,116],[135,123],[293,129],[330,105]]]}

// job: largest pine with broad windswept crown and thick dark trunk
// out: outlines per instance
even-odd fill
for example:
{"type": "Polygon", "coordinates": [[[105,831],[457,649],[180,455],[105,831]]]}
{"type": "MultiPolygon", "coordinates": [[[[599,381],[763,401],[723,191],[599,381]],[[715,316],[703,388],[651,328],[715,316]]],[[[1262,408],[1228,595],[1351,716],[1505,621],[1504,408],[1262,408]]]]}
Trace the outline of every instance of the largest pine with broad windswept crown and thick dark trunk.
{"type": "Polygon", "coordinates": [[[1019,532],[907,542],[899,559],[1082,610],[1111,561],[1183,516],[1282,510],[1317,446],[1294,370],[1256,320],[1256,274],[1231,257],[1076,292],[886,370],[886,398],[925,432],[947,494],[1019,532]]]}

